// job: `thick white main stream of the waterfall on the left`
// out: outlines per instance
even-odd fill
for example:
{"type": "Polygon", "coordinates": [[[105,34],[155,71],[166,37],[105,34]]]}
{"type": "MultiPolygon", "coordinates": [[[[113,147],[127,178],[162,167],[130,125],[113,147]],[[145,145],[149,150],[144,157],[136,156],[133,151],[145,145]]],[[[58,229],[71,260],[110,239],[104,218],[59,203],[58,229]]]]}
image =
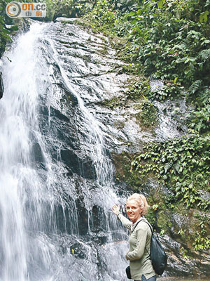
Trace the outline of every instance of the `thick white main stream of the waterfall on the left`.
{"type": "MultiPolygon", "coordinates": [[[[41,53],[37,40],[42,29],[41,25],[32,26],[30,32],[18,38],[13,51],[6,53],[3,60],[5,92],[0,103],[2,281],[31,280],[30,264],[36,267],[39,263],[48,268],[50,263],[48,247],[42,247],[42,235],[38,237],[38,231],[45,229],[46,205],[53,206],[52,197],[31,158],[33,139],[40,138],[37,107],[41,53]]],[[[43,144],[41,139],[39,143],[43,144]]]]}

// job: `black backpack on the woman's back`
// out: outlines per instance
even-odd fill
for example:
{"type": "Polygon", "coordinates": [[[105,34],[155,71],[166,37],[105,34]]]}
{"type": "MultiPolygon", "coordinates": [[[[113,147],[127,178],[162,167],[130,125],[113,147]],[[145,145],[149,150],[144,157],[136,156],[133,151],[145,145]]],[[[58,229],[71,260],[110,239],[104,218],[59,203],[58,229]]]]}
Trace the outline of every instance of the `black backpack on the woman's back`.
{"type": "MultiPolygon", "coordinates": [[[[151,228],[151,225],[145,221],[148,226],[151,228]]],[[[162,248],[160,241],[158,238],[154,235],[153,229],[151,228],[152,236],[151,236],[151,262],[153,265],[153,268],[155,270],[155,273],[158,275],[162,275],[165,268],[167,267],[167,254],[165,254],[164,249],[162,248]]],[[[147,251],[147,249],[146,249],[147,251]]]]}

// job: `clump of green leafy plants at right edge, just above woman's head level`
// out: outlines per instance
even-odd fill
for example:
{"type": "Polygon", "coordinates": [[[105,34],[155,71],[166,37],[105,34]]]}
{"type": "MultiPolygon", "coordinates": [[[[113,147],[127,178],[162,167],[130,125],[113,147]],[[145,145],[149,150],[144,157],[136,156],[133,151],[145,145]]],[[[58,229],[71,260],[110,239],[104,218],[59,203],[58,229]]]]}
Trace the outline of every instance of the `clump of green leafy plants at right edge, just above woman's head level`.
{"type": "MultiPolygon", "coordinates": [[[[202,190],[210,191],[210,137],[196,134],[165,143],[148,143],[132,162],[132,173],[155,175],[186,207],[209,209],[202,190]]],[[[172,198],[173,201],[173,198],[172,198]]]]}

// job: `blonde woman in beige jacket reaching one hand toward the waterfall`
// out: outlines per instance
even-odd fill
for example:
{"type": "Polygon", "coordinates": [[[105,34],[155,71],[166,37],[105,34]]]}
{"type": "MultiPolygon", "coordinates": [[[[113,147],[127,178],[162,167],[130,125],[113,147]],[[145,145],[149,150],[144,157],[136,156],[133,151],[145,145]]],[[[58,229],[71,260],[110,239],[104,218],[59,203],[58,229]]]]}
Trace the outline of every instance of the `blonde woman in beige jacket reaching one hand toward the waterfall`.
{"type": "Polygon", "coordinates": [[[126,211],[129,219],[120,213],[120,205],[113,205],[113,213],[123,226],[130,230],[129,251],[126,259],[130,261],[131,276],[134,281],[156,281],[155,271],[150,259],[151,229],[144,215],[148,211],[148,203],[144,195],[134,193],[127,198],[126,211]]]}

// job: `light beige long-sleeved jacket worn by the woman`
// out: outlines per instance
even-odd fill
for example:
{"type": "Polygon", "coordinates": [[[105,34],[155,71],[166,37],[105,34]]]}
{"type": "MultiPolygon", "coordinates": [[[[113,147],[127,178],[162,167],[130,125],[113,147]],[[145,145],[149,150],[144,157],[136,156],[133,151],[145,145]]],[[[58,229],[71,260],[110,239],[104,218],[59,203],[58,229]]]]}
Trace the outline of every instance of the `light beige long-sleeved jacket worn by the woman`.
{"type": "Polygon", "coordinates": [[[123,226],[130,230],[129,235],[129,251],[127,251],[126,259],[130,261],[130,271],[132,279],[141,280],[141,275],[144,274],[146,279],[155,275],[150,259],[151,249],[151,229],[145,222],[146,218],[139,218],[136,223],[132,223],[125,218],[123,214],[118,215],[118,219],[123,223],[123,226]],[[137,225],[138,223],[138,225],[137,225]],[[137,227],[135,228],[135,226],[137,227]],[[146,250],[147,249],[147,250],[146,250]]]}

